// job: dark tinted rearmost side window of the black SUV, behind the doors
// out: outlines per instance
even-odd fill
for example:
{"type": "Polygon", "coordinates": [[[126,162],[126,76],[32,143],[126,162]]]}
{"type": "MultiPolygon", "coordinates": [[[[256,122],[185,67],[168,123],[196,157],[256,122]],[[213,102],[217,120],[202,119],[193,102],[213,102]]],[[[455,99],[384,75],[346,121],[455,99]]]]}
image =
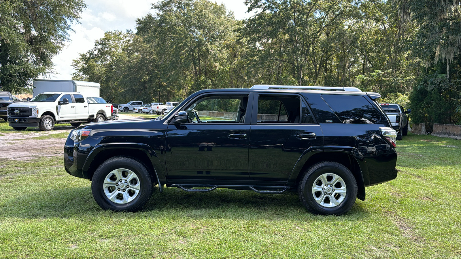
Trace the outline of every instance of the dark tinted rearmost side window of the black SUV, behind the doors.
{"type": "Polygon", "coordinates": [[[336,116],[349,124],[373,124],[380,119],[376,109],[360,95],[322,94],[336,116]]]}

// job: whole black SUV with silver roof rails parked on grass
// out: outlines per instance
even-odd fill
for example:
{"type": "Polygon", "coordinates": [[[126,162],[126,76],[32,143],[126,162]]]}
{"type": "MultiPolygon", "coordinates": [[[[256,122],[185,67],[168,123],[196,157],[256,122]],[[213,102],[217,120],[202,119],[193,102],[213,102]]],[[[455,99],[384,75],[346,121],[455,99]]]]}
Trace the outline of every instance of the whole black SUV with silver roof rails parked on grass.
{"type": "Polygon", "coordinates": [[[280,194],[342,214],[365,187],[397,177],[396,131],[358,88],[255,85],[190,95],[163,117],[85,124],[65,143],[65,170],[91,180],[103,209],[137,211],[177,187],[280,194]]]}

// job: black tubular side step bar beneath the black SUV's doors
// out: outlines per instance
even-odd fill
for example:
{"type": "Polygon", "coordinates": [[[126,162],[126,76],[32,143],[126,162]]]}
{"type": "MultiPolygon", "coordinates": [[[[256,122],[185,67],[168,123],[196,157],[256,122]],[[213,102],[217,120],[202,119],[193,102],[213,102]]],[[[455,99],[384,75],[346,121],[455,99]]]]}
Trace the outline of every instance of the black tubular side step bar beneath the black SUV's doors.
{"type": "Polygon", "coordinates": [[[168,187],[177,187],[181,188],[186,192],[211,192],[216,188],[249,188],[259,194],[281,194],[284,191],[290,189],[289,186],[259,186],[259,185],[212,185],[212,184],[205,184],[205,185],[196,185],[196,184],[169,184],[168,187]],[[193,189],[193,188],[201,188],[201,189],[193,189]],[[267,189],[278,189],[277,191],[269,191],[267,189]],[[282,189],[282,190],[279,190],[282,189]]]}

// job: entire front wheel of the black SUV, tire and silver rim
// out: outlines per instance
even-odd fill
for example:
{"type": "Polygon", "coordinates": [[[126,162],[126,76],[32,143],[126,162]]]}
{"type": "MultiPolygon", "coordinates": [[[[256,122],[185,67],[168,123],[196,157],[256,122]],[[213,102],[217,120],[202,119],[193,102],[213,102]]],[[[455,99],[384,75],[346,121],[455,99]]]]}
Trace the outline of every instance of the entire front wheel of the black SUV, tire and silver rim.
{"type": "Polygon", "coordinates": [[[104,161],[91,180],[91,192],[104,210],[136,212],[154,190],[146,167],[130,157],[116,156],[104,161]]]}

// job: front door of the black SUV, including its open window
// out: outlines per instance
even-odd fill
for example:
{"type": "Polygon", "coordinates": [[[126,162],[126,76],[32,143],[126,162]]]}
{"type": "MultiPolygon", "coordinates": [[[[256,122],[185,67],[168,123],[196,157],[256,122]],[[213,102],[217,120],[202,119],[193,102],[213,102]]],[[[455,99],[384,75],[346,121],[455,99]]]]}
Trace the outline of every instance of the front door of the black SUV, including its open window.
{"type": "Polygon", "coordinates": [[[168,125],[168,177],[248,181],[247,106],[248,94],[234,93],[200,96],[181,108],[189,122],[168,125]]]}

